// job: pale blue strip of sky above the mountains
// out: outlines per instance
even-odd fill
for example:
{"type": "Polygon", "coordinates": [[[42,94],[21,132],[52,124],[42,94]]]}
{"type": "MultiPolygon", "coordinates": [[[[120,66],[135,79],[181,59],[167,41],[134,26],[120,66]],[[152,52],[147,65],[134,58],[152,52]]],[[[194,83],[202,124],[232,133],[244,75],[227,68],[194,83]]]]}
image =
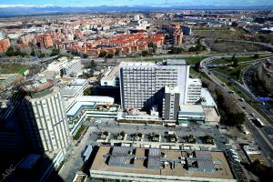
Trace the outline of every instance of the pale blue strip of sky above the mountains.
{"type": "Polygon", "coordinates": [[[256,6],[273,5],[273,0],[0,0],[0,7],[6,6],[99,6],[99,5],[148,5],[148,6],[176,6],[176,5],[215,5],[215,6],[256,6]]]}

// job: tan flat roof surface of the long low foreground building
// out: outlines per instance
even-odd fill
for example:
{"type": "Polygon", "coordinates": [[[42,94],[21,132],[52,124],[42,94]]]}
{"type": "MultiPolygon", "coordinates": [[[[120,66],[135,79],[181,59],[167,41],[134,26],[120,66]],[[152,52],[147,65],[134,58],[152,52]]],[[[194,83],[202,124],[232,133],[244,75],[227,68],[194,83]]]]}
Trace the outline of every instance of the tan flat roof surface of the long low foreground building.
{"type": "Polygon", "coordinates": [[[145,175],[234,179],[223,152],[196,151],[196,157],[188,157],[188,153],[192,151],[158,148],[156,149],[159,150],[158,155],[158,151],[150,153],[148,150],[151,149],[155,150],[156,148],[120,147],[118,150],[115,150],[114,147],[99,147],[90,171],[91,173],[92,170],[96,170],[102,171],[102,173],[110,171],[145,175]],[[113,154],[113,151],[116,151],[116,154],[113,154]],[[133,154],[131,151],[134,151],[133,154]],[[150,154],[153,155],[151,156],[150,154]],[[106,157],[107,155],[110,156],[110,159],[106,157]],[[114,158],[111,159],[111,157],[114,158]],[[185,165],[183,166],[182,163],[180,163],[180,161],[183,160],[181,159],[182,157],[185,157],[188,161],[197,160],[200,166],[205,167],[207,167],[207,164],[204,164],[203,161],[210,161],[210,166],[213,167],[214,171],[189,170],[187,167],[184,167],[185,165]],[[147,162],[148,160],[150,160],[150,162],[147,162]],[[164,163],[164,161],[176,161],[176,165],[173,168],[171,168],[170,165],[163,167],[162,163],[164,163]],[[121,164],[119,165],[118,163],[121,164]],[[149,165],[152,167],[147,167],[149,165]]]}

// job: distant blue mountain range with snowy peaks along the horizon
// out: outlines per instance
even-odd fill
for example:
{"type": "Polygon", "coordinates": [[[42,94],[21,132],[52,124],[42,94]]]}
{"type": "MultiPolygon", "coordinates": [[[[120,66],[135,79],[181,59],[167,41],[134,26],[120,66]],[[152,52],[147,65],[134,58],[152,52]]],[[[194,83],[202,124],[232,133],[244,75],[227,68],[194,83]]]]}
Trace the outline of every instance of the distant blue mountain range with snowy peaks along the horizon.
{"type": "Polygon", "coordinates": [[[3,6],[0,5],[0,17],[23,16],[23,15],[54,15],[54,14],[78,14],[78,13],[99,13],[99,12],[150,12],[150,11],[170,11],[179,9],[199,9],[199,10],[255,10],[265,9],[272,10],[271,6],[87,6],[87,7],[72,7],[72,6],[55,6],[55,5],[15,5],[3,6]]]}

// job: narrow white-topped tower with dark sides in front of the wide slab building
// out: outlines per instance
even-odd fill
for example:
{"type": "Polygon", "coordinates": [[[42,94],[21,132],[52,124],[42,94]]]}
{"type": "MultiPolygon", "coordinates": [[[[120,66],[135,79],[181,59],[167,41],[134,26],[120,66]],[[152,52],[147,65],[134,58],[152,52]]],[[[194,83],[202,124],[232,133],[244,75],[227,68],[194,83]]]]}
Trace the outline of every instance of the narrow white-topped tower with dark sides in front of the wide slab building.
{"type": "Polygon", "coordinates": [[[179,112],[179,89],[178,86],[165,86],[165,97],[163,99],[162,117],[165,120],[177,120],[179,112]]]}

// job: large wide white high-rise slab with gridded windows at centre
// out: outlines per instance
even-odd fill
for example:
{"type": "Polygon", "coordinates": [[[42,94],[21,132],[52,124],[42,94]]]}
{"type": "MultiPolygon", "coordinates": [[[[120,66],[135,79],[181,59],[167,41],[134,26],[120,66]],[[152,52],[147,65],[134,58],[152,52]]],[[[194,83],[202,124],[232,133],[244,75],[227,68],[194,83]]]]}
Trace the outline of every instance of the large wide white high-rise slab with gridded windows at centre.
{"type": "Polygon", "coordinates": [[[162,111],[165,86],[178,86],[179,105],[187,102],[189,66],[185,60],[164,63],[126,62],[119,66],[121,106],[149,111],[154,105],[162,111]]]}

